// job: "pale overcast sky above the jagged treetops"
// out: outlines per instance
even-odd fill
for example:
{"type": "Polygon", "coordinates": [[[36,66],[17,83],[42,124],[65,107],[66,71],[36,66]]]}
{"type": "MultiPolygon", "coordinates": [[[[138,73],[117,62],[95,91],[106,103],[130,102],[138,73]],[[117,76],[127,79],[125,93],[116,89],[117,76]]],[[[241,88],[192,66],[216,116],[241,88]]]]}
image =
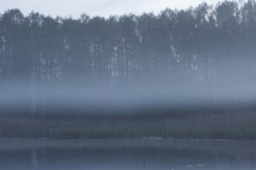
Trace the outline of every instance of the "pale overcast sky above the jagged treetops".
{"type": "Polygon", "coordinates": [[[158,13],[164,8],[188,8],[201,2],[212,4],[219,0],[0,0],[0,13],[10,8],[19,8],[25,15],[34,11],[54,17],[61,15],[78,18],[81,13],[91,16],[158,13]]]}

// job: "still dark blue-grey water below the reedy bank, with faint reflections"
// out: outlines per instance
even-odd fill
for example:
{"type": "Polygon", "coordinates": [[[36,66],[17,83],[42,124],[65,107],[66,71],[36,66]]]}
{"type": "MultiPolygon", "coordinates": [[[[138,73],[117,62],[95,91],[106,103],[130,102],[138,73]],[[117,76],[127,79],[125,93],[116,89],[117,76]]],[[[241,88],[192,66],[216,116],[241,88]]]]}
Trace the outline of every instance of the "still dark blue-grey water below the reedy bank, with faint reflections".
{"type": "Polygon", "coordinates": [[[6,170],[256,169],[256,141],[0,139],[6,170]]]}

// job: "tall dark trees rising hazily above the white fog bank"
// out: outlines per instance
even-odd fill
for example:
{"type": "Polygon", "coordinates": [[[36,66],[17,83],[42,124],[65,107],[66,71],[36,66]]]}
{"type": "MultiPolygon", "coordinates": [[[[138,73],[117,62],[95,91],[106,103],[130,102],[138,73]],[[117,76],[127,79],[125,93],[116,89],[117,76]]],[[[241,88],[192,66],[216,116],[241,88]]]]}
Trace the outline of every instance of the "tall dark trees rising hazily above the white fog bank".
{"type": "Polygon", "coordinates": [[[234,60],[254,71],[255,46],[255,0],[108,18],[10,9],[0,15],[0,79],[228,80],[239,72],[234,60]]]}

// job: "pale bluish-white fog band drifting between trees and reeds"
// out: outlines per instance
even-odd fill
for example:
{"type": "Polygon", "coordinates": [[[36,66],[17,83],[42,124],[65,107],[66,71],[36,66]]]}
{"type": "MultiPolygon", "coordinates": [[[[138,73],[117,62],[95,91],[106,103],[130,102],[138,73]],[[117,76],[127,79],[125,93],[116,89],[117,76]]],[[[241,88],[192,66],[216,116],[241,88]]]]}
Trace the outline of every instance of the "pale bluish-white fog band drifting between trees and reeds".
{"type": "Polygon", "coordinates": [[[0,108],[47,107],[62,109],[129,110],[147,107],[253,104],[256,83],[122,83],[2,86],[0,108]]]}

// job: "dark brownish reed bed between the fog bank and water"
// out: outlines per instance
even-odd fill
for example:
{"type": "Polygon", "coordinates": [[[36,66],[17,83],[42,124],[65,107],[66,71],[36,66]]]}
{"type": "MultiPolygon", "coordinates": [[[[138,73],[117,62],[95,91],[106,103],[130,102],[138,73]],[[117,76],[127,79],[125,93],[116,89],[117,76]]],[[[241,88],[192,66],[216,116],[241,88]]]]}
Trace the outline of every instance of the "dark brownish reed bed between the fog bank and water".
{"type": "Polygon", "coordinates": [[[256,111],[161,117],[1,117],[1,138],[256,139],[256,111]]]}

